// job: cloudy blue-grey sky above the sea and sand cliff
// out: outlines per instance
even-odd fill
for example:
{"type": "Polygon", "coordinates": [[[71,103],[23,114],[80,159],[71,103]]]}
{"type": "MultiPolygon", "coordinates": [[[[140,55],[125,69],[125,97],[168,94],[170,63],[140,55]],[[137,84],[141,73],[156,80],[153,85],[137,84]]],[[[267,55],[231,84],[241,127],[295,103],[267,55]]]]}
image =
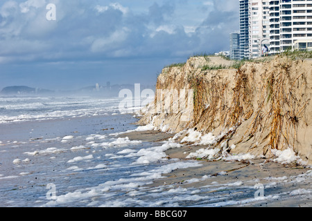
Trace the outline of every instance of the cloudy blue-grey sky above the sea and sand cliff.
{"type": "Polygon", "coordinates": [[[0,90],[155,85],[236,30],[239,0],[1,0],[0,90]]]}

